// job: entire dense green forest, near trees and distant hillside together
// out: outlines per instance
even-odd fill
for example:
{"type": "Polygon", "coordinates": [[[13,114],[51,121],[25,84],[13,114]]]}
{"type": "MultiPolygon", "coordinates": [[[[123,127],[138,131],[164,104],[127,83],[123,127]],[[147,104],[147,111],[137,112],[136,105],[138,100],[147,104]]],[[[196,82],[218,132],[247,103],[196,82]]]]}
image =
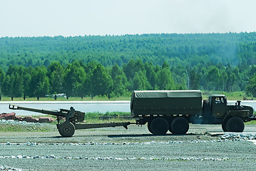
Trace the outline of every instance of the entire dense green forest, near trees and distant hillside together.
{"type": "Polygon", "coordinates": [[[256,33],[0,38],[1,95],[119,96],[131,90],[246,90],[256,33]]]}

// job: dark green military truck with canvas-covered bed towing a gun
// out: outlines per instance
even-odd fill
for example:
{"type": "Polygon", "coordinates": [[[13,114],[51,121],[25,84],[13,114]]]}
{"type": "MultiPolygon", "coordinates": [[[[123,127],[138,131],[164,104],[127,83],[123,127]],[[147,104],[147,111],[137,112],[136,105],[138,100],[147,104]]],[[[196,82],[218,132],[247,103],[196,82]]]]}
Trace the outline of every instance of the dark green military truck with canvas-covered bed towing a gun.
{"type": "Polygon", "coordinates": [[[200,90],[134,90],[130,112],[138,125],[148,123],[154,135],[188,132],[189,123],[221,124],[225,132],[242,132],[246,122],[256,120],[253,108],[228,105],[225,95],[210,95],[202,100],[200,90]]]}

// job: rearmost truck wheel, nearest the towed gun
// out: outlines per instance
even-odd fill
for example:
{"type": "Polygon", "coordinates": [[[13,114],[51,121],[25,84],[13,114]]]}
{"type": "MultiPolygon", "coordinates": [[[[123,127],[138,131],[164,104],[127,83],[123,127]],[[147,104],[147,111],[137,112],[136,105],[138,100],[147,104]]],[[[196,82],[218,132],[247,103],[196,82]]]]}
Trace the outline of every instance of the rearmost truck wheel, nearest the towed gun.
{"type": "MultiPolygon", "coordinates": [[[[152,131],[153,135],[165,135],[168,131],[169,124],[165,118],[155,118],[150,123],[150,130],[152,131]]],[[[149,130],[149,131],[150,131],[149,130]]]]}

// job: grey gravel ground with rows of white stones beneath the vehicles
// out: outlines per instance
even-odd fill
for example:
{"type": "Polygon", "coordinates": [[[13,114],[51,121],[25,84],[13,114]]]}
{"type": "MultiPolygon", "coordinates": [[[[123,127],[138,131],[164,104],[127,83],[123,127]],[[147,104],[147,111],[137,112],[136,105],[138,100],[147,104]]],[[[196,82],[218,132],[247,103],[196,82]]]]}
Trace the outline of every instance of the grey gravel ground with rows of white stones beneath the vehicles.
{"type": "Polygon", "coordinates": [[[256,145],[247,141],[256,139],[255,125],[236,135],[221,135],[220,125],[190,125],[180,136],[128,128],[76,130],[71,138],[0,133],[0,170],[256,170],[256,145]]]}

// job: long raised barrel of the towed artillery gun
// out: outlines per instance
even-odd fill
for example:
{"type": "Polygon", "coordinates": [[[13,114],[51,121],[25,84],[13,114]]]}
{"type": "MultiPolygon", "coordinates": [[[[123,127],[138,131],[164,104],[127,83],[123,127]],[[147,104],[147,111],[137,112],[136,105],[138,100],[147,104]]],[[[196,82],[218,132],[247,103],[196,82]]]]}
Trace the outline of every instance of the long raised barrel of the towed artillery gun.
{"type": "Polygon", "coordinates": [[[36,112],[36,113],[43,113],[43,114],[63,116],[63,117],[66,117],[66,115],[68,113],[67,111],[26,108],[26,107],[19,106],[19,105],[14,105],[14,104],[9,104],[9,109],[12,109],[12,110],[27,110],[27,111],[36,112]]]}

